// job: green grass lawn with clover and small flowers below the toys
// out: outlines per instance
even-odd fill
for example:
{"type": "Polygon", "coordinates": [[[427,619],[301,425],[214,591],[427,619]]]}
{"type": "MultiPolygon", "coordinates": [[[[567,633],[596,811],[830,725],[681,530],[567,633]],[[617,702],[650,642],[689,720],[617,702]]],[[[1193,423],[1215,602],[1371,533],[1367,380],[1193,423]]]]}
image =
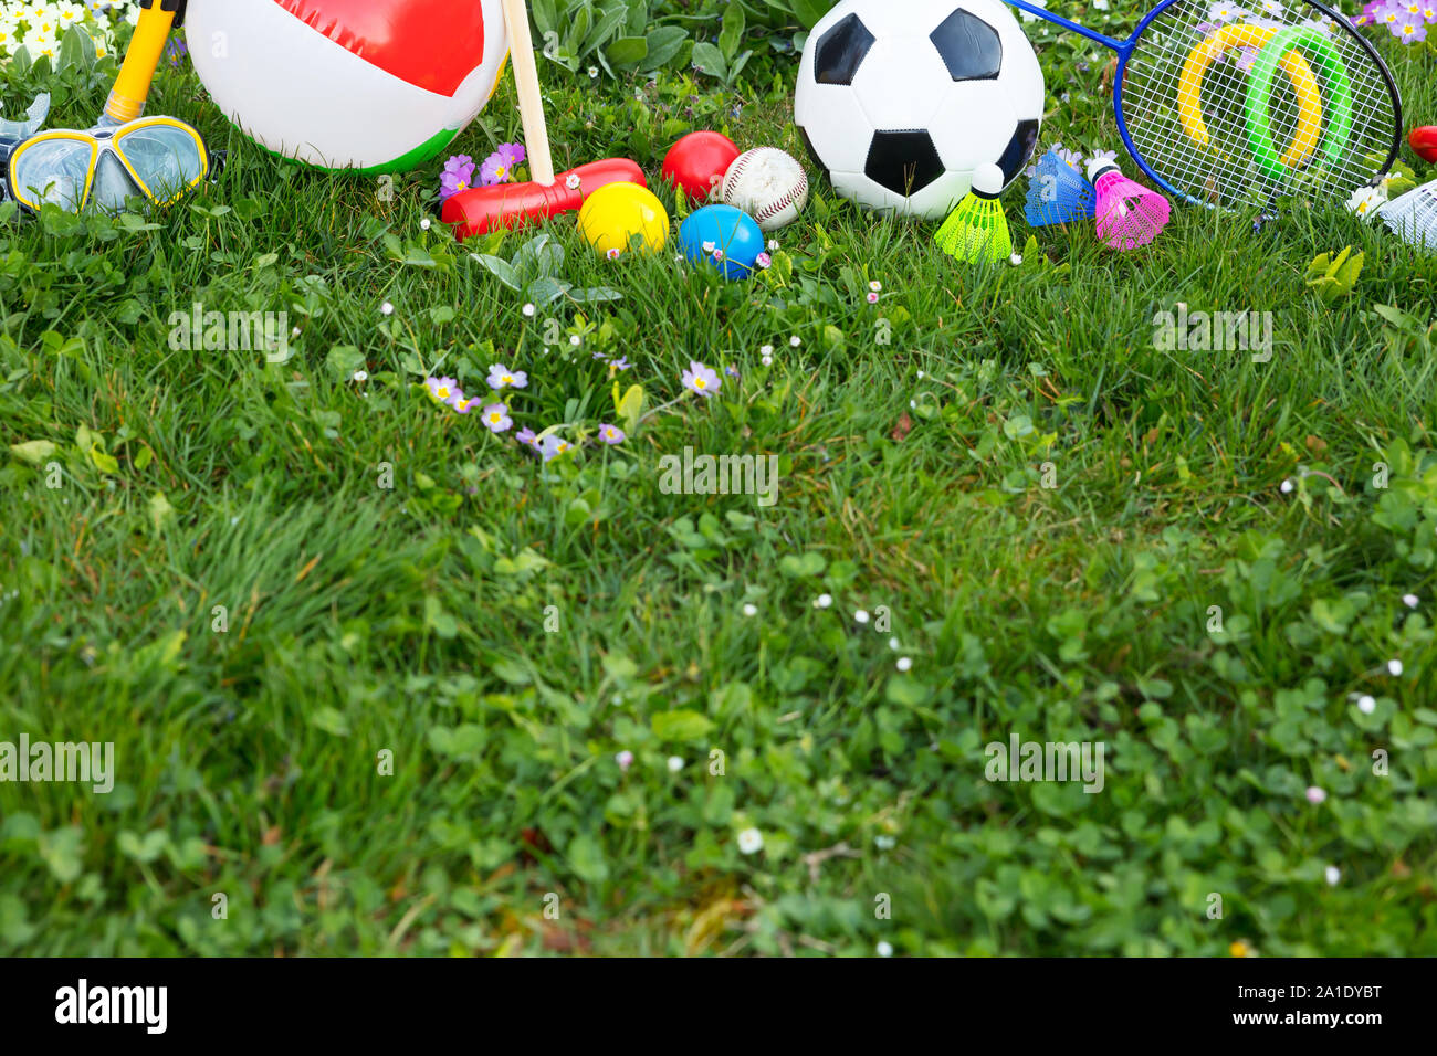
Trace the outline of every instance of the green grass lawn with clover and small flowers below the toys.
{"type": "MultiPolygon", "coordinates": [[[[1437,121],[1433,52],[1382,50],[1437,121]]],[[[1042,144],[1115,147],[1105,57],[1040,56],[1042,144]]],[[[793,70],[546,66],[560,168],[657,174],[693,128],[799,151],[793,70]]],[[[558,273],[622,299],[526,319],[468,254],[533,233],[422,230],[438,165],[392,200],[286,167],[191,72],[151,112],[230,151],[217,185],[0,227],[0,447],[55,445],[0,453],[0,740],[118,769],[0,783],[0,951],[1437,953],[1437,257],[1342,208],[1177,208],[1145,251],[1048,228],[977,267],[819,184],[786,284],[599,260],[560,218],[558,273]],[[1308,263],[1345,246],[1328,305],[1308,263]],[[171,349],[195,302],[287,310],[293,356],[171,349]],[[1180,302],[1272,312],[1270,362],[1157,351],[1180,302]],[[691,358],[740,376],[605,448],[595,351],[650,409],[691,358]],[[529,372],[519,427],[589,443],[542,467],[420,386],[491,362],[529,372]],[[779,455],[776,506],[664,494],[685,445],[779,455]],[[1102,741],[1104,790],[986,780],[1015,733],[1102,741]]],[[[506,85],[456,149],[519,138],[506,85]]]]}

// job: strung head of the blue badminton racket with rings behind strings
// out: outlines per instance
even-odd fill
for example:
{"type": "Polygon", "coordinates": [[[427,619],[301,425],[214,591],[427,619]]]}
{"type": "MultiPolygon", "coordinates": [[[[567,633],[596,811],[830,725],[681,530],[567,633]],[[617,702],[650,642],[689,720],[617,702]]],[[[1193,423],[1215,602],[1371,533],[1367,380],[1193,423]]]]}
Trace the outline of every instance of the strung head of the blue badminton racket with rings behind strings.
{"type": "Polygon", "coordinates": [[[1255,7],[1177,0],[1152,20],[1122,82],[1135,151],[1201,203],[1346,198],[1387,168],[1387,80],[1351,29],[1305,0],[1255,7]]]}

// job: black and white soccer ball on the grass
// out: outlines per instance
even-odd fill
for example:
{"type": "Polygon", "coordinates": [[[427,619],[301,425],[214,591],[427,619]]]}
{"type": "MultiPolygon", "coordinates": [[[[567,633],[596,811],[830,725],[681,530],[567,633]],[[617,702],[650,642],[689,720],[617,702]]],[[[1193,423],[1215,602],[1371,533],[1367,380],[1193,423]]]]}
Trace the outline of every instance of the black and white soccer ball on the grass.
{"type": "Polygon", "coordinates": [[[1007,187],[1038,142],[1043,72],[1000,0],[842,0],[803,46],[793,121],[845,198],[937,220],[1007,187]]]}

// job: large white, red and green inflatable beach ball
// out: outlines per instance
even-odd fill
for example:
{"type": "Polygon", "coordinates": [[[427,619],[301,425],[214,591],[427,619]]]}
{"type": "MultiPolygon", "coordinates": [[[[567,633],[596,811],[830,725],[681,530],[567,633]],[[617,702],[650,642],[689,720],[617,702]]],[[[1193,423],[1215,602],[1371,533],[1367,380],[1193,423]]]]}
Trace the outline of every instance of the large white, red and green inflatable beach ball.
{"type": "Polygon", "coordinates": [[[402,172],[484,108],[509,56],[500,0],[190,0],[190,59],[260,145],[402,172]]]}

